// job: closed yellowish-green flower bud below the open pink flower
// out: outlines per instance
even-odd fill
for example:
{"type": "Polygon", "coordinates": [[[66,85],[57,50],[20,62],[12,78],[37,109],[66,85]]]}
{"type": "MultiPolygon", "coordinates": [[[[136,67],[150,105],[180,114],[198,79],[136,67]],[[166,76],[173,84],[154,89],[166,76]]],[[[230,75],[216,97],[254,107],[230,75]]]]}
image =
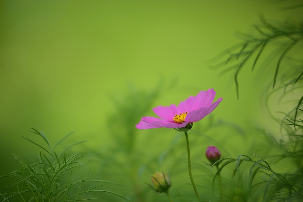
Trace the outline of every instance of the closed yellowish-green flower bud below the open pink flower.
{"type": "Polygon", "coordinates": [[[171,181],[168,178],[167,173],[159,173],[156,172],[151,176],[151,182],[154,185],[154,190],[161,193],[161,192],[167,192],[168,188],[171,186],[171,181]]]}

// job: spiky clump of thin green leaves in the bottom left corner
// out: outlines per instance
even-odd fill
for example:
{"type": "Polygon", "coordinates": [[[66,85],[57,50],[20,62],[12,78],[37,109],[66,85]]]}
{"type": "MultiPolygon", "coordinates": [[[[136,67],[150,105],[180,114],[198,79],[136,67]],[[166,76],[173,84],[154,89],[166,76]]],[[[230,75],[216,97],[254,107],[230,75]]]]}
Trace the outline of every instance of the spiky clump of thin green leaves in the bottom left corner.
{"type": "MultiPolygon", "coordinates": [[[[57,153],[54,150],[55,147],[72,133],[69,133],[57,144],[55,144],[54,147],[51,147],[48,139],[42,132],[38,132],[36,129],[33,129],[32,132],[40,135],[47,143],[48,148],[45,148],[26,137],[22,137],[42,148],[43,151],[46,152],[46,155],[40,151],[40,155],[38,156],[39,161],[32,164],[25,164],[18,158],[17,155],[14,155],[15,159],[20,163],[21,168],[12,171],[11,173],[2,175],[0,178],[6,177],[13,179],[14,182],[8,184],[7,186],[15,187],[16,191],[0,193],[0,197],[3,197],[1,202],[17,200],[24,202],[55,202],[97,199],[91,197],[82,197],[82,195],[85,194],[89,196],[89,194],[92,192],[107,192],[122,197],[112,191],[98,189],[98,187],[103,186],[101,183],[117,183],[91,179],[87,172],[84,172],[83,177],[79,179],[76,179],[73,176],[73,171],[75,171],[77,167],[83,165],[79,160],[84,156],[79,153],[65,155],[65,151],[84,141],[76,142],[65,148],[62,152],[57,153]],[[98,185],[86,188],[88,187],[86,185],[88,183],[98,183],[98,185]]],[[[126,198],[124,199],[127,200],[126,198]]]]}

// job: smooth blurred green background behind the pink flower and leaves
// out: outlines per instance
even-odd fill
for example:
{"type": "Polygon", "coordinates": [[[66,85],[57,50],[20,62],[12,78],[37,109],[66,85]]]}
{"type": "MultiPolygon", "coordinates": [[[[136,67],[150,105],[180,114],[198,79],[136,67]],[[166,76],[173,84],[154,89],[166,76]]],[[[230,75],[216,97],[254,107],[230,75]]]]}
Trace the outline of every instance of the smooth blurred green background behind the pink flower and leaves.
{"type": "MultiPolygon", "coordinates": [[[[71,150],[87,155],[83,163],[91,176],[125,185],[104,189],[132,201],[165,201],[143,185],[163,170],[170,173],[172,195],[194,199],[184,134],[135,125],[154,116],[152,107],[214,88],[215,100],[223,101],[189,132],[193,175],[200,195],[211,200],[207,146],[235,158],[258,149],[262,140],[254,127],[271,132],[278,126],[262,106],[274,67],[265,73],[243,69],[237,99],[233,74],[218,76],[224,69],[210,66],[241,42],[237,31],[249,33],[259,23],[259,14],[299,23],[302,10],[284,9],[296,2],[1,1],[0,175],[19,168],[13,154],[37,161],[41,148],[21,136],[45,142],[30,128],[44,132],[52,145],[75,131],[57,149],[86,140],[71,150]]],[[[8,190],[5,183],[0,190],[8,190]]]]}

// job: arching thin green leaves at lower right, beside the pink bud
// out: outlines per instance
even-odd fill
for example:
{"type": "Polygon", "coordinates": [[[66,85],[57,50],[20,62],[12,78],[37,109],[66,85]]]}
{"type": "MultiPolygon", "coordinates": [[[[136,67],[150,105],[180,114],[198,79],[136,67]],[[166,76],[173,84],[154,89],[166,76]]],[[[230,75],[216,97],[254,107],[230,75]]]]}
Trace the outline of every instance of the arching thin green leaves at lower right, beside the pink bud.
{"type": "Polygon", "coordinates": [[[236,159],[223,158],[215,162],[212,165],[211,169],[220,163],[221,166],[218,167],[218,171],[216,172],[213,178],[213,188],[216,178],[220,177],[220,173],[222,169],[225,168],[225,166],[235,162],[235,168],[233,171],[233,176],[235,177],[235,175],[242,175],[242,173],[240,172],[240,166],[243,165],[244,162],[250,162],[252,165],[249,167],[248,170],[247,184],[243,186],[245,187],[246,191],[245,194],[241,195],[241,197],[245,196],[245,198],[243,198],[243,201],[270,201],[274,199],[278,199],[278,201],[303,200],[302,183],[300,184],[299,181],[297,184],[294,184],[293,181],[290,182],[289,179],[293,177],[292,174],[277,173],[272,170],[269,163],[263,158],[258,155],[254,156],[257,156],[259,160],[253,160],[247,155],[239,155],[236,159]],[[261,179],[256,178],[258,173],[262,174],[261,179]],[[260,193],[260,190],[264,190],[263,193],[260,193]]]}

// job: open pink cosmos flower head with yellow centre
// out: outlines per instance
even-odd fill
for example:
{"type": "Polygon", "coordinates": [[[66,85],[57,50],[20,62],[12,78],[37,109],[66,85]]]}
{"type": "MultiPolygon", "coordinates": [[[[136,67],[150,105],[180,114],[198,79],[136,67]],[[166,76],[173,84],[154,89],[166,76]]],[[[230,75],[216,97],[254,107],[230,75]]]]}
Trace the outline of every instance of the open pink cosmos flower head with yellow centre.
{"type": "Polygon", "coordinates": [[[190,96],[185,101],[179,103],[178,107],[174,104],[170,106],[158,106],[153,111],[160,118],[145,116],[136,125],[138,129],[152,128],[184,128],[187,124],[200,121],[212,112],[222,98],[214,101],[216,92],[214,89],[200,91],[197,96],[190,96]]]}

